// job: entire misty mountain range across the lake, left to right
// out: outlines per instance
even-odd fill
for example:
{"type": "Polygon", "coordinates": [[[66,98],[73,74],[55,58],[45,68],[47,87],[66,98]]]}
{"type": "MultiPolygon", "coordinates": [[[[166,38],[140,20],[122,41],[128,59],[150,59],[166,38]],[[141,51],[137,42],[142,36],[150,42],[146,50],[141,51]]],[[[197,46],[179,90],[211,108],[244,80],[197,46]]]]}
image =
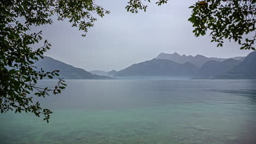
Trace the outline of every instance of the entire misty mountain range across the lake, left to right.
{"type": "MultiPolygon", "coordinates": [[[[246,57],[214,58],[160,53],[119,71],[86,71],[44,56],[34,64],[44,71],[60,70],[64,79],[133,79],[132,77],[189,77],[192,79],[256,79],[256,51],[246,57]],[[130,77],[130,78],[129,78],[130,77]]],[[[57,79],[58,77],[54,77],[57,79]]]]}

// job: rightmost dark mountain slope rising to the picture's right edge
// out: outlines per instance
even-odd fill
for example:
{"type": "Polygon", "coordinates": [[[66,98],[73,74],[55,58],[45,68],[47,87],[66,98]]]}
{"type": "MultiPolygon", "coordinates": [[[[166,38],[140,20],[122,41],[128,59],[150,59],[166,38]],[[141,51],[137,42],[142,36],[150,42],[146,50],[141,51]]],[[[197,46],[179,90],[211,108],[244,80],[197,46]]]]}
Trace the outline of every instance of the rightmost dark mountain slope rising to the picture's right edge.
{"type": "Polygon", "coordinates": [[[238,65],[215,79],[256,79],[256,51],[249,55],[238,65]]]}

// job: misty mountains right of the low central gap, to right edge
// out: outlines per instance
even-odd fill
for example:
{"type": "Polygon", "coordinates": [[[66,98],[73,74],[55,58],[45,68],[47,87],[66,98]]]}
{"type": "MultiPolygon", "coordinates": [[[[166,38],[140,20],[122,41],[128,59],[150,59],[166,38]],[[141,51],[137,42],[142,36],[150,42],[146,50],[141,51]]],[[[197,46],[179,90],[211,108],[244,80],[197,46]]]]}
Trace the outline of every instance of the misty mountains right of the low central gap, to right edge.
{"type": "Polygon", "coordinates": [[[114,77],[188,76],[194,79],[256,79],[256,51],[247,57],[214,58],[178,53],[160,55],[150,61],[132,64],[114,77]]]}

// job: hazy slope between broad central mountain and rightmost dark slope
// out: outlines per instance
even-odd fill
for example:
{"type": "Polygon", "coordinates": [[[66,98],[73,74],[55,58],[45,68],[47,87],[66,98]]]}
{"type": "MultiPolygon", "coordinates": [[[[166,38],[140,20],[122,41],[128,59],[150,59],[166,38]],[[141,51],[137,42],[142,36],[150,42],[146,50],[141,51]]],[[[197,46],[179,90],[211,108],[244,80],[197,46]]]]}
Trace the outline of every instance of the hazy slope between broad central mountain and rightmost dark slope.
{"type": "Polygon", "coordinates": [[[232,68],[234,68],[236,65],[240,64],[241,61],[237,61],[235,59],[226,59],[223,62],[218,61],[208,61],[205,64],[202,65],[199,75],[201,77],[211,77],[216,76],[218,74],[224,73],[232,68]]]}

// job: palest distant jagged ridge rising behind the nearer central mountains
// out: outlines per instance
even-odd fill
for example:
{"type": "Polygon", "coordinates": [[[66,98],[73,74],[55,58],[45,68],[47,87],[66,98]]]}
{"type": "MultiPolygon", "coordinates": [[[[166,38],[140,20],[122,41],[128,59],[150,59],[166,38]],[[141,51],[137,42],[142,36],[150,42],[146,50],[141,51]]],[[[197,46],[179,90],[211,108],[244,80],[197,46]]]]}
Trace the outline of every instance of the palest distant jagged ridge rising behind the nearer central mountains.
{"type": "MultiPolygon", "coordinates": [[[[243,57],[234,57],[232,59],[240,60],[241,58],[243,58],[243,57]]],[[[225,61],[227,58],[205,57],[202,55],[196,55],[196,56],[182,55],[181,56],[177,52],[174,52],[173,54],[160,53],[158,55],[158,57],[156,57],[155,59],[168,59],[170,61],[174,61],[174,62],[181,63],[181,64],[189,62],[189,63],[194,64],[200,68],[204,63],[206,63],[208,61],[222,62],[222,61],[225,61]]]]}

